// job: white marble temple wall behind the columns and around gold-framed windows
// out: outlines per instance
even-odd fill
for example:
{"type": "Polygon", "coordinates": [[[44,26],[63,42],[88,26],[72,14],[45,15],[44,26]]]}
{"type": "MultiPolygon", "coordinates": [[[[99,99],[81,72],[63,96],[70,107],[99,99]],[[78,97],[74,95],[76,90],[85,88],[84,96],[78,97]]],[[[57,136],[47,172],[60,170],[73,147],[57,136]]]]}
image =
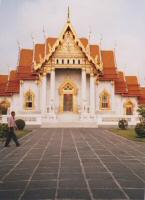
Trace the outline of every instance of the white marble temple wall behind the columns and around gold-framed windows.
{"type": "MultiPolygon", "coordinates": [[[[59,87],[61,84],[64,83],[65,80],[70,79],[72,82],[74,82],[78,88],[78,96],[77,96],[77,102],[78,107],[81,109],[81,103],[82,103],[82,93],[81,90],[81,70],[78,69],[56,69],[55,70],[55,111],[56,113],[59,112],[59,106],[60,106],[60,95],[59,95],[59,87]]],[[[88,106],[90,105],[90,75],[87,75],[86,77],[86,98],[88,106]]],[[[24,94],[31,90],[35,93],[35,111],[41,112],[42,108],[41,105],[43,103],[42,99],[42,84],[37,84],[35,81],[24,81],[24,83],[20,86],[20,94],[14,94],[12,97],[8,97],[7,99],[11,103],[10,110],[15,110],[18,114],[19,113],[25,113],[24,110],[24,94]]],[[[0,97],[0,101],[4,100],[4,97],[0,97]]],[[[111,81],[100,81],[98,85],[95,87],[95,111],[97,113],[97,116],[99,115],[124,115],[125,109],[123,107],[124,103],[126,101],[132,101],[134,104],[134,115],[137,115],[137,107],[138,102],[136,97],[122,97],[121,95],[115,95],[114,91],[114,84],[111,81]],[[101,111],[100,110],[100,94],[103,92],[103,90],[106,90],[110,96],[111,96],[111,110],[101,111]]],[[[47,75],[47,81],[46,81],[46,110],[50,103],[50,74],[47,75]]],[[[34,111],[34,112],[35,112],[34,111]]],[[[32,111],[27,111],[32,112],[32,111]]]]}

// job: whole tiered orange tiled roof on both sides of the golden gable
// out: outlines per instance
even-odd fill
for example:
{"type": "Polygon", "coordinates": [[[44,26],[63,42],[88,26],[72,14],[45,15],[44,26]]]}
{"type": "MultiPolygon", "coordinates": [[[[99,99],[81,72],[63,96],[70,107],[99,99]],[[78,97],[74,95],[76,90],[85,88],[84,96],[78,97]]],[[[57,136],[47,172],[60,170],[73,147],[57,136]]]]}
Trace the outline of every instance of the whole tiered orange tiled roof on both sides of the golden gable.
{"type": "MultiPolygon", "coordinates": [[[[57,38],[49,37],[46,44],[35,45],[34,59],[36,63],[44,58],[45,45],[46,53],[50,52],[57,38]]],[[[82,45],[86,48],[88,39],[80,38],[82,45]]],[[[115,93],[123,96],[137,96],[139,103],[145,102],[145,88],[140,88],[136,76],[124,77],[123,72],[118,72],[116,68],[115,55],[113,51],[100,51],[98,45],[90,45],[90,55],[94,59],[99,56],[99,62],[103,63],[103,75],[99,77],[100,81],[114,81],[115,93]]],[[[0,96],[9,96],[19,93],[20,80],[37,80],[38,74],[33,69],[33,50],[22,49],[20,51],[20,59],[17,70],[12,70],[9,75],[0,75],[0,96]]]]}

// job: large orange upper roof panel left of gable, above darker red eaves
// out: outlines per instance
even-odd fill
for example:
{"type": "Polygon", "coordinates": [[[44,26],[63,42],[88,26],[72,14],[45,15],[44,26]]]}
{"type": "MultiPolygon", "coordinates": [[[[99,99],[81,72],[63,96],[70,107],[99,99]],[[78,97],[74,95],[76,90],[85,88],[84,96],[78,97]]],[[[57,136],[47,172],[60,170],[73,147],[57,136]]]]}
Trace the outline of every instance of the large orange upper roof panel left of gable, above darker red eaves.
{"type": "Polygon", "coordinates": [[[31,66],[33,62],[33,50],[21,49],[19,66],[31,66]]]}

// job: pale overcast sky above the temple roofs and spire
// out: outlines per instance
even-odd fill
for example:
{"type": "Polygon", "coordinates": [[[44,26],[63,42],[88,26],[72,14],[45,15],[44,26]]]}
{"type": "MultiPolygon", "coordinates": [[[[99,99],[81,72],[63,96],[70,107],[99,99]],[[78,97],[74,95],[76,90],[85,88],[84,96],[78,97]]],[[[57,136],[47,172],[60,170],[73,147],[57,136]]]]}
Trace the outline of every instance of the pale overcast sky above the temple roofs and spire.
{"type": "Polygon", "coordinates": [[[89,36],[102,49],[114,49],[118,69],[145,84],[145,0],[0,0],[0,73],[13,69],[18,45],[32,48],[47,36],[58,37],[71,21],[79,37],[89,36]]]}

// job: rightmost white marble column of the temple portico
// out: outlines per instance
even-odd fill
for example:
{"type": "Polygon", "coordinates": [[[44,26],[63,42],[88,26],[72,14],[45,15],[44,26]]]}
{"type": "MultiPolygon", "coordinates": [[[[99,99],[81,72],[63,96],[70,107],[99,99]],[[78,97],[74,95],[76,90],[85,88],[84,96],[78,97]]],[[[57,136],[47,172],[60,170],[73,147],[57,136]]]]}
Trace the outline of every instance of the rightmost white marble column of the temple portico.
{"type": "Polygon", "coordinates": [[[95,113],[95,77],[90,74],[90,113],[95,113]]]}

